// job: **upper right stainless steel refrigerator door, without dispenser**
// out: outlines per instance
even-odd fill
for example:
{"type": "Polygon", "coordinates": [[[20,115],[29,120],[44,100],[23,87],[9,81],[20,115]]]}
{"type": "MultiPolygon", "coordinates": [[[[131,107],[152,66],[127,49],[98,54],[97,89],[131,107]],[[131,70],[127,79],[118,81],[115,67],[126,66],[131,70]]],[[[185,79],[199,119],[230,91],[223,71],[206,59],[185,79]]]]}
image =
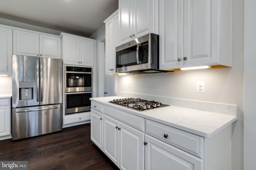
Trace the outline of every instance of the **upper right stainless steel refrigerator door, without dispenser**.
{"type": "Polygon", "coordinates": [[[40,105],[62,103],[62,60],[40,58],[40,105]]]}

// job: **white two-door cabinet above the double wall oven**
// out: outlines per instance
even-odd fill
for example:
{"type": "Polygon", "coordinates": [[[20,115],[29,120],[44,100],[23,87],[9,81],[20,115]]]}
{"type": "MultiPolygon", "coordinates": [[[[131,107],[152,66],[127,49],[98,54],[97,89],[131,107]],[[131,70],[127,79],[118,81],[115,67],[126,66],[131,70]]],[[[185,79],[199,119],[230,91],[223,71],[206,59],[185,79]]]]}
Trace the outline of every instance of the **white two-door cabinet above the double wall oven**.
{"type": "Polygon", "coordinates": [[[64,64],[94,66],[96,40],[61,33],[64,64]]]}

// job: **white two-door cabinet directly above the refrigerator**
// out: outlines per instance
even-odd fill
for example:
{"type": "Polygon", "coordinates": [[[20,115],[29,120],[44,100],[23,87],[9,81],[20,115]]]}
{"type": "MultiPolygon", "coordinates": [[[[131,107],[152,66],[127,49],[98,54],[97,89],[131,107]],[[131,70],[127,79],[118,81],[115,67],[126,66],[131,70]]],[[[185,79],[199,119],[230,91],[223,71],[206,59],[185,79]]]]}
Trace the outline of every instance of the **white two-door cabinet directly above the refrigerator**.
{"type": "Polygon", "coordinates": [[[13,30],[13,54],[60,59],[60,38],[34,31],[13,30]]]}

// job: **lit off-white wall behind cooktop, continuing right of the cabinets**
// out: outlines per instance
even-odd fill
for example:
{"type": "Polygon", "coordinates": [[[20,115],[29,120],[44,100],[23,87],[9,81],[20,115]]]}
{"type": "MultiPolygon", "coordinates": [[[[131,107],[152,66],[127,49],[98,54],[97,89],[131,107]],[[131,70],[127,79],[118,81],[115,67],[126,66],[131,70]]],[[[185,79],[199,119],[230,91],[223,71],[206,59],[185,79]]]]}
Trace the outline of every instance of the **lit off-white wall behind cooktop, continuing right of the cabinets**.
{"type": "Polygon", "coordinates": [[[231,68],[118,76],[117,90],[120,92],[236,104],[238,106],[238,120],[232,124],[232,170],[242,170],[244,1],[233,0],[232,5],[233,66],[231,68]],[[205,93],[196,93],[196,81],[205,82],[205,93]],[[130,82],[131,88],[127,87],[128,82],[130,82]]]}

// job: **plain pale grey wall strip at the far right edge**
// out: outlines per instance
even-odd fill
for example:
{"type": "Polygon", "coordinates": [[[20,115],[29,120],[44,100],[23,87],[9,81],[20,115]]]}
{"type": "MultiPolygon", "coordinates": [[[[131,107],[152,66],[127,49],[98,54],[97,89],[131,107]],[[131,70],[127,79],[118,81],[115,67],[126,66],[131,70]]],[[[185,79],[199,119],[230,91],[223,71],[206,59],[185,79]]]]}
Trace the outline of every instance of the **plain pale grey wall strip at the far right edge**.
{"type": "Polygon", "coordinates": [[[244,170],[256,167],[256,1],[244,1],[244,170]]]}

